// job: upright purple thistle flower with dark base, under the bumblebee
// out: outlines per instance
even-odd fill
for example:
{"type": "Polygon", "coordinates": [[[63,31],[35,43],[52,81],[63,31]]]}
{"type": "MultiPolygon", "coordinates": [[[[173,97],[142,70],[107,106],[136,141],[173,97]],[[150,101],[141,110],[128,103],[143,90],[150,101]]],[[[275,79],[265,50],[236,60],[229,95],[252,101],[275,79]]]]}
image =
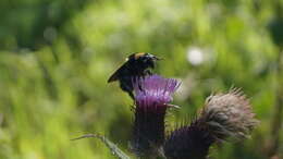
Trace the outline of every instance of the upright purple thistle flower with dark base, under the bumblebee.
{"type": "Polygon", "coordinates": [[[134,81],[135,121],[131,149],[137,156],[157,154],[164,140],[164,117],[180,83],[158,75],[134,81]]]}

